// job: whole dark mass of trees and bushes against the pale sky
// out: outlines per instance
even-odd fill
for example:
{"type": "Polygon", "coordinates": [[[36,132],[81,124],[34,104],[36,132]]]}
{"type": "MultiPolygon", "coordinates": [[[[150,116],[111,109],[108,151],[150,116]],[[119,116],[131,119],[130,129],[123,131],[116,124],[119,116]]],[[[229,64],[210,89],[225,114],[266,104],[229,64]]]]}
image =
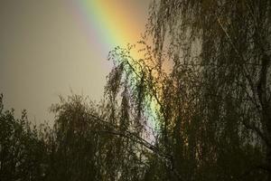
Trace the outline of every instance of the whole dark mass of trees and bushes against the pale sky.
{"type": "Polygon", "coordinates": [[[0,180],[271,180],[270,1],[154,1],[108,59],[104,99],[61,98],[53,128],[1,96],[0,180]]]}

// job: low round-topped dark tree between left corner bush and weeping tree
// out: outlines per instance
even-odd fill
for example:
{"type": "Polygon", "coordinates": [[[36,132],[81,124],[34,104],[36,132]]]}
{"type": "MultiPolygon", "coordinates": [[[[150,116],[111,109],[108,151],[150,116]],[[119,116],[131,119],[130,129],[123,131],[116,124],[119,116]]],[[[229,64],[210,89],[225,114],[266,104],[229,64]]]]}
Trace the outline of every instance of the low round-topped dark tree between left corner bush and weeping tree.
{"type": "Polygon", "coordinates": [[[118,108],[72,95],[51,107],[56,119],[49,180],[142,179],[144,140],[129,126],[127,99],[125,90],[118,108]]]}

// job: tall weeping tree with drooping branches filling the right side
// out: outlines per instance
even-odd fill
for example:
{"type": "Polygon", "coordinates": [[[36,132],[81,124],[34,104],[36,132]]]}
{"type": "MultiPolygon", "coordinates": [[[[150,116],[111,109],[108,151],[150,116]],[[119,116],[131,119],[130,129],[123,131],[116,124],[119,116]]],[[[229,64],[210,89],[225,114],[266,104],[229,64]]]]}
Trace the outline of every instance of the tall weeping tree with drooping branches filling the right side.
{"type": "Polygon", "coordinates": [[[142,59],[131,47],[109,58],[116,92],[132,90],[143,114],[158,105],[175,178],[269,180],[270,2],[154,1],[149,20],[142,59]]]}

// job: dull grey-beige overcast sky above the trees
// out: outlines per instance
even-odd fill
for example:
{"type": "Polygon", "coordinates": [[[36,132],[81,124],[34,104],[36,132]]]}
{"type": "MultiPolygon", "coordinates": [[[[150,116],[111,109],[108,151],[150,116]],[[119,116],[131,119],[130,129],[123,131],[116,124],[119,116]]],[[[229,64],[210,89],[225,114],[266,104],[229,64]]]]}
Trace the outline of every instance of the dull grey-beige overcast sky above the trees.
{"type": "MultiPolygon", "coordinates": [[[[124,12],[136,34],[122,39],[135,43],[145,30],[150,0],[89,1],[98,2],[99,14],[90,10],[82,13],[84,4],[80,1],[1,0],[0,92],[4,93],[6,108],[14,108],[16,115],[26,109],[29,118],[40,123],[52,119],[48,109],[58,102],[60,94],[65,96],[73,90],[92,100],[102,97],[112,67],[107,53],[117,43],[95,34],[99,15],[110,13],[103,12],[108,8],[103,10],[102,5],[110,4],[109,11],[116,14],[124,12]]],[[[103,18],[111,22],[121,17],[103,18]]],[[[99,24],[99,28],[103,25],[110,29],[107,23],[99,24]]],[[[120,34],[131,31],[127,24],[121,28],[120,34]]]]}

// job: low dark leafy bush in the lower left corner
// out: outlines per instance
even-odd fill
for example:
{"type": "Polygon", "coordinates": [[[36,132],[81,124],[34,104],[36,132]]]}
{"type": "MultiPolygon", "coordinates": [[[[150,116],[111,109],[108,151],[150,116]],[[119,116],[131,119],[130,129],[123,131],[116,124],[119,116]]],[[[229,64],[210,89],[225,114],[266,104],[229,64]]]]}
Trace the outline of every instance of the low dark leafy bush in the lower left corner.
{"type": "Polygon", "coordinates": [[[4,109],[1,94],[1,180],[45,180],[47,153],[41,130],[32,127],[25,110],[21,119],[15,119],[14,110],[4,109]]]}

